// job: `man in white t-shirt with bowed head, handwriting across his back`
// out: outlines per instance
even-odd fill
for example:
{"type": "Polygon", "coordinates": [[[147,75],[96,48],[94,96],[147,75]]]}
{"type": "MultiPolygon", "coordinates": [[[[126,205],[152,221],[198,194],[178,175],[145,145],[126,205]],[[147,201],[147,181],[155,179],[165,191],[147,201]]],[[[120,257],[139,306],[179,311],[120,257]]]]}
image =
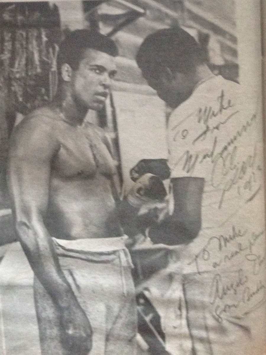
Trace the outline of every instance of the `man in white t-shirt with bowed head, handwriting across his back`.
{"type": "Polygon", "coordinates": [[[149,35],[137,54],[143,77],[173,109],[173,211],[149,230],[172,250],[156,297],[165,299],[171,354],[249,354],[249,345],[255,354],[266,290],[260,119],[241,102],[240,85],[215,76],[206,57],[181,28],[149,35]]]}

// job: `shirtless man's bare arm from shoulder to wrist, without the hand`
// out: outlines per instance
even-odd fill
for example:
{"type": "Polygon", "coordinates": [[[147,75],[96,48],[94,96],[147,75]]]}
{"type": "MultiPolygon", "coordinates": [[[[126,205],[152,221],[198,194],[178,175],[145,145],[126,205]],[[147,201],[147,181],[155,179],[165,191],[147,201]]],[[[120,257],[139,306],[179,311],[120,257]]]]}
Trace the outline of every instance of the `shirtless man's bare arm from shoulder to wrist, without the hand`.
{"type": "Polygon", "coordinates": [[[51,295],[63,304],[69,286],[60,269],[52,239],[43,223],[49,196],[50,160],[58,149],[51,128],[31,119],[10,142],[8,184],[18,239],[31,267],[51,295]]]}

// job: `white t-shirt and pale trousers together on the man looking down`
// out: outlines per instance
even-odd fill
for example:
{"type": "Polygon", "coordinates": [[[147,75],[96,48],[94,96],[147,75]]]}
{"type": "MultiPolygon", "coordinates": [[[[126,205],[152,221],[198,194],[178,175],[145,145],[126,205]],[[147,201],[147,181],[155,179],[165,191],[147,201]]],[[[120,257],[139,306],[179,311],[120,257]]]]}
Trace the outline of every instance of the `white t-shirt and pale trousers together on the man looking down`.
{"type": "Polygon", "coordinates": [[[147,284],[170,354],[191,355],[192,344],[199,355],[248,354],[254,324],[265,327],[262,120],[241,97],[240,85],[212,76],[168,121],[172,179],[205,181],[199,235],[169,248],[167,268],[147,284]]]}

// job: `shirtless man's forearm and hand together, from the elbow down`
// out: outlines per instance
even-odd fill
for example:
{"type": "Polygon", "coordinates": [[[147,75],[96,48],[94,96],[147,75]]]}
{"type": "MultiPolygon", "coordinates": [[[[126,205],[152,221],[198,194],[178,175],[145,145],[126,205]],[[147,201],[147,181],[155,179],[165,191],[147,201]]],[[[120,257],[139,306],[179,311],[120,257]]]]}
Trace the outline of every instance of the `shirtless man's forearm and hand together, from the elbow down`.
{"type": "Polygon", "coordinates": [[[89,354],[90,321],[60,268],[51,237],[43,234],[39,224],[35,227],[17,223],[17,233],[35,275],[56,305],[62,346],[67,354],[89,354]]]}

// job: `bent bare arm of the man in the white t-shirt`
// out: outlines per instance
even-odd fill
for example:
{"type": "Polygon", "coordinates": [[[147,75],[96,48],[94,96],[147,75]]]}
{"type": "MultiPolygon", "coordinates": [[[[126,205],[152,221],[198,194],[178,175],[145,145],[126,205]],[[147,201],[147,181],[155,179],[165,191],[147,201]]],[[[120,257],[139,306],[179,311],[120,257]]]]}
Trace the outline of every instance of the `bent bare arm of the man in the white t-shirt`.
{"type": "Polygon", "coordinates": [[[149,229],[154,243],[178,245],[192,241],[201,227],[202,178],[172,179],[174,211],[160,224],[149,229]]]}

